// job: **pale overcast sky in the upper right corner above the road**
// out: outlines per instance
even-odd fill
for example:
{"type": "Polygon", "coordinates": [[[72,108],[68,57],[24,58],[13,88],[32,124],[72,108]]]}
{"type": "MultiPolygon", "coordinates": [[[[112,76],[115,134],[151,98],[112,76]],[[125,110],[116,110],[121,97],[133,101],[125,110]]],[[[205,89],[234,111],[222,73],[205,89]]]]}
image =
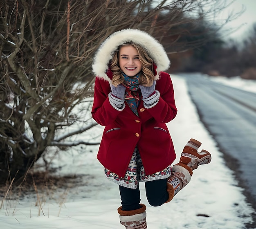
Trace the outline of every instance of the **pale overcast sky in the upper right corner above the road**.
{"type": "Polygon", "coordinates": [[[227,0],[227,4],[230,4],[227,9],[223,10],[216,16],[216,19],[225,19],[230,13],[244,12],[236,19],[232,20],[227,24],[224,29],[238,28],[232,34],[225,36],[225,39],[234,39],[240,41],[246,38],[249,31],[252,29],[253,23],[256,23],[256,0],[227,0]]]}

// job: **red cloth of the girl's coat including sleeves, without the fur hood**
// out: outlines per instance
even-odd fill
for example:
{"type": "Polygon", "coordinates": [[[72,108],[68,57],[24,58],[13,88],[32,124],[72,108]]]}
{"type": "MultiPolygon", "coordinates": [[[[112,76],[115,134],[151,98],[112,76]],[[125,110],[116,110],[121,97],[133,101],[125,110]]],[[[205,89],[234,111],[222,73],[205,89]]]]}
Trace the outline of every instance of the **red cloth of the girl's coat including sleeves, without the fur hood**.
{"type": "Polygon", "coordinates": [[[97,158],[120,177],[124,177],[136,145],[147,174],[163,170],[176,157],[165,124],[177,114],[170,75],[160,72],[155,89],[160,92],[157,105],[147,109],[141,101],[137,117],[127,104],[123,111],[115,110],[108,100],[109,82],[96,77],[92,117],[105,126],[97,158]]]}

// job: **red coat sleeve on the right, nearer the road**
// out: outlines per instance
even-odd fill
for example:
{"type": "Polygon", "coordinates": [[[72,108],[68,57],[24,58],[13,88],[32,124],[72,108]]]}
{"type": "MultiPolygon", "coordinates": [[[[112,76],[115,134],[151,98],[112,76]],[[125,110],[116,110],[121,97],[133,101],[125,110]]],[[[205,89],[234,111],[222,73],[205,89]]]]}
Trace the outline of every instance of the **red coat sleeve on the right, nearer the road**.
{"type": "Polygon", "coordinates": [[[156,90],[160,92],[159,101],[156,106],[148,108],[148,112],[150,112],[156,121],[168,123],[177,115],[173,83],[171,76],[166,72],[161,72],[160,77],[156,83],[156,90]]]}

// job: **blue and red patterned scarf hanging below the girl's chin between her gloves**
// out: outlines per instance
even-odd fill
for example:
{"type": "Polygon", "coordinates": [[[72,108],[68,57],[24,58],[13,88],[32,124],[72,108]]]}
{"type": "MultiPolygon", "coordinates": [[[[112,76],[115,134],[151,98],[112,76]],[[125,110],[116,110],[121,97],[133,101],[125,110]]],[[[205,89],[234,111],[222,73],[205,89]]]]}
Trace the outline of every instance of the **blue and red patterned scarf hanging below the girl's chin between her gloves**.
{"type": "Polygon", "coordinates": [[[131,108],[132,112],[135,115],[139,116],[137,107],[139,106],[139,102],[141,101],[141,93],[139,89],[139,74],[133,77],[129,77],[124,72],[122,72],[124,76],[124,86],[126,87],[126,92],[124,95],[124,99],[128,106],[131,108]]]}

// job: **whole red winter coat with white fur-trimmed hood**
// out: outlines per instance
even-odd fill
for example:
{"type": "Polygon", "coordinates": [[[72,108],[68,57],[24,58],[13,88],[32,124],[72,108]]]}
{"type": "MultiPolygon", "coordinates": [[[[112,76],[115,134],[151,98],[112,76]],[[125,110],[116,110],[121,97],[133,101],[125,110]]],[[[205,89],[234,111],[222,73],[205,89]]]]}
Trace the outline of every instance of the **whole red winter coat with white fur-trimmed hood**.
{"type": "Polygon", "coordinates": [[[135,146],[139,149],[147,175],[162,171],[171,165],[176,157],[165,124],[177,114],[173,84],[170,75],[164,72],[169,64],[162,45],[138,29],[124,29],[110,35],[94,56],[92,70],[97,77],[92,117],[100,125],[105,126],[97,158],[104,167],[119,177],[125,176],[135,146]],[[118,111],[111,106],[108,99],[112,81],[109,63],[119,46],[127,42],[140,45],[153,59],[155,89],[160,92],[160,99],[152,108],[145,108],[143,101],[140,101],[137,109],[139,117],[132,112],[126,102],[124,110],[118,111]]]}

